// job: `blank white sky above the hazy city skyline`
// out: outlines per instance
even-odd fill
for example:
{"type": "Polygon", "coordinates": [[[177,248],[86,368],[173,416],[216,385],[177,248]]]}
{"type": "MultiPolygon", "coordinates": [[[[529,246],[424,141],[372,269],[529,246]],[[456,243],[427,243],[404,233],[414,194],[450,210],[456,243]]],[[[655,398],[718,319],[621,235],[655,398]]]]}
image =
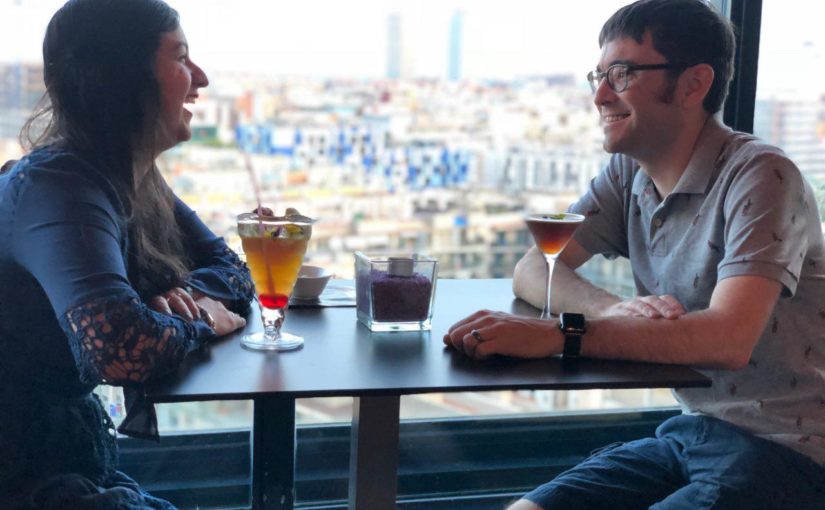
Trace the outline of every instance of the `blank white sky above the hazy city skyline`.
{"type": "MultiPolygon", "coordinates": [[[[62,0],[0,0],[0,61],[39,61],[46,24],[62,0]]],[[[584,75],[598,30],[626,0],[170,0],[193,58],[207,71],[383,76],[387,17],[399,12],[416,75],[443,77],[448,26],[465,13],[463,74],[508,79],[584,75]]],[[[825,2],[765,0],[760,89],[825,90],[825,2]],[[804,13],[804,14],[802,14],[804,13]],[[801,66],[801,67],[800,67],[801,66]]]]}

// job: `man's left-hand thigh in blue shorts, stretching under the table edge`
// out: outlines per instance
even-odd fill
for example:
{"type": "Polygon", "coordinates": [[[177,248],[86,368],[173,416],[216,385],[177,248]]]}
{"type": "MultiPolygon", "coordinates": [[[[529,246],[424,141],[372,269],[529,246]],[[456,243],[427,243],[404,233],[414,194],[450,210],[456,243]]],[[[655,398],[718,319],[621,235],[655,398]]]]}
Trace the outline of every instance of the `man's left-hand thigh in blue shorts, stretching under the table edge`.
{"type": "Polygon", "coordinates": [[[553,481],[526,494],[511,510],[636,510],[687,480],[669,444],[655,438],[603,448],[553,481]]]}

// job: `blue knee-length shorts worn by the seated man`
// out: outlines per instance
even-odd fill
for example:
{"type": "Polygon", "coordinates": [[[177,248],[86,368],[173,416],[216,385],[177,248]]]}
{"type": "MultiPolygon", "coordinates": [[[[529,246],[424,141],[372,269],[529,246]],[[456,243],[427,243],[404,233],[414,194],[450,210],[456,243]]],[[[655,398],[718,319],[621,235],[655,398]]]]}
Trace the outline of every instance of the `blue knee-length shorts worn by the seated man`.
{"type": "Polygon", "coordinates": [[[524,498],[545,510],[823,510],[825,468],[722,420],[682,415],[524,498]]]}

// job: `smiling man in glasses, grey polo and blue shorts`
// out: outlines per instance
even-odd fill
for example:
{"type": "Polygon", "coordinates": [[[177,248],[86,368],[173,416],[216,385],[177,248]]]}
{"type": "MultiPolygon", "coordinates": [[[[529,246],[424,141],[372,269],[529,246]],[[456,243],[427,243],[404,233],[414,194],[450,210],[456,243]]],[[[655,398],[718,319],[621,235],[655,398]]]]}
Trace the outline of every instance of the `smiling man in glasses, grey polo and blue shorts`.
{"type": "MultiPolygon", "coordinates": [[[[825,508],[825,256],[810,186],[779,149],[718,120],[734,39],[707,4],[641,0],[599,44],[589,79],[613,156],[571,207],[586,220],[552,285],[554,311],[583,314],[584,328],[564,317],[586,331],[483,311],[444,341],[475,358],[580,348],[691,365],[713,386],[677,390],[684,414],[655,438],[611,445],[511,508],[825,508]],[[629,258],[638,297],[573,272],[594,254],[629,258]]],[[[531,249],[516,295],[540,307],[545,271],[531,249]]]]}

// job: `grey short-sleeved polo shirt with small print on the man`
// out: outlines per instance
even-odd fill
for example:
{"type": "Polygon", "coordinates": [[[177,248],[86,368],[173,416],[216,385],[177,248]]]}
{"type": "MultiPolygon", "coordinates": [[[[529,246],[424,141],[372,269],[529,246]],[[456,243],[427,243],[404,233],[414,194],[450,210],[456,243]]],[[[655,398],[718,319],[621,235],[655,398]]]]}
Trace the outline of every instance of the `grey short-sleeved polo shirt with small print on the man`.
{"type": "MultiPolygon", "coordinates": [[[[676,390],[683,411],[727,420],[825,464],[825,253],[816,200],[773,146],[710,118],[670,195],[616,154],[571,207],[576,240],[630,259],[639,295],[708,307],[716,283],[755,275],[781,297],[748,365],[702,370],[710,388],[676,390]]],[[[741,320],[748,320],[743,317],[741,320]]]]}

